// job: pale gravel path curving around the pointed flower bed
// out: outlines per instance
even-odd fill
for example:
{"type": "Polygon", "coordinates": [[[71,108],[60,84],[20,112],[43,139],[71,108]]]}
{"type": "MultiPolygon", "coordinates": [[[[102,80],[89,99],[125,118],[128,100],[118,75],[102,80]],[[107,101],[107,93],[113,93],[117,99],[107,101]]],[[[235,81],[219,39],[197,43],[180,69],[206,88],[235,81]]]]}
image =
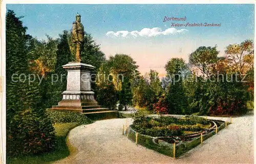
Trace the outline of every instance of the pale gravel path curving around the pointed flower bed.
{"type": "MultiPolygon", "coordinates": [[[[132,119],[127,120],[132,124],[132,119]]],[[[203,145],[173,159],[136,146],[122,135],[125,119],[97,121],[70,131],[70,143],[78,153],[56,163],[253,163],[253,115],[232,118],[232,123],[203,145]]]]}

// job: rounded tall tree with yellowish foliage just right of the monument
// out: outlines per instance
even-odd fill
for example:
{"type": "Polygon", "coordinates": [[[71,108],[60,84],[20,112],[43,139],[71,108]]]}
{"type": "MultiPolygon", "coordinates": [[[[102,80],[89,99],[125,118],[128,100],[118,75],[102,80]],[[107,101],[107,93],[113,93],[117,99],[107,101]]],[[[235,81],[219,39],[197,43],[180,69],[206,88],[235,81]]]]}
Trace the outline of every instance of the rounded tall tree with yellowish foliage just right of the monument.
{"type": "MultiPolygon", "coordinates": [[[[105,87],[111,81],[115,90],[119,92],[120,104],[126,108],[132,102],[131,83],[135,77],[135,73],[138,72],[137,68],[138,65],[136,65],[136,62],[128,55],[116,54],[115,56],[111,56],[98,69],[97,87],[105,87]]],[[[100,92],[97,91],[97,93],[100,92]]],[[[97,96],[101,97],[101,95],[97,96]]]]}

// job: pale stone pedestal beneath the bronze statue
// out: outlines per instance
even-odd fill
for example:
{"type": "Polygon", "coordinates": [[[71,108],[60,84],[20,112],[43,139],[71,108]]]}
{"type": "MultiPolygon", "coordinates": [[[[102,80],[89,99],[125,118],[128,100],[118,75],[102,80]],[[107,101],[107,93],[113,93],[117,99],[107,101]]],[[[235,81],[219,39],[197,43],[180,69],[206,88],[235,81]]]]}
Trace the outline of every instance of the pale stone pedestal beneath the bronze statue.
{"type": "Polygon", "coordinates": [[[62,92],[62,100],[54,108],[77,108],[98,105],[91,89],[90,72],[95,69],[90,64],[69,62],[62,66],[68,71],[67,90],[62,92]]]}

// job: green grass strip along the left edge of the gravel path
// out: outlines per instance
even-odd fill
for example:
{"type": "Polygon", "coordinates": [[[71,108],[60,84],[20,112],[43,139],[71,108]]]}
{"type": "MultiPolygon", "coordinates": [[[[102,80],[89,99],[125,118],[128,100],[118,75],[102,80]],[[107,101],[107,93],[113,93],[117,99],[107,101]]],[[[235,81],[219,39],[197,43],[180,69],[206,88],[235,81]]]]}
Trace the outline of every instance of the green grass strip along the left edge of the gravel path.
{"type": "Polygon", "coordinates": [[[40,154],[40,155],[31,155],[31,156],[20,156],[16,158],[10,158],[7,160],[7,163],[11,164],[34,164],[34,163],[52,163],[53,161],[63,159],[70,154],[76,152],[76,149],[69,144],[69,140],[66,140],[66,137],[69,131],[76,126],[80,125],[79,123],[62,123],[55,124],[56,132],[56,149],[52,152],[40,154]]]}

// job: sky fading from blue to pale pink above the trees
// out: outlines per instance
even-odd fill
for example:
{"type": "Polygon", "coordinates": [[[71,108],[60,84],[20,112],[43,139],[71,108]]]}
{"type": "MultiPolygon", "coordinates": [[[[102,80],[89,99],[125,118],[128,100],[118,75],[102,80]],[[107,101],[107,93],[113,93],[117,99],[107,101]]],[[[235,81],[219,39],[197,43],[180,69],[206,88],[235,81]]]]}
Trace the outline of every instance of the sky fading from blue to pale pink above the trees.
{"type": "Polygon", "coordinates": [[[58,37],[63,30],[70,30],[75,15],[81,15],[84,29],[92,34],[101,50],[108,57],[116,53],[131,55],[142,74],[156,69],[164,74],[163,66],[172,57],[188,55],[199,46],[218,45],[220,55],[228,44],[254,38],[254,5],[19,5],[7,4],[28,27],[27,33],[38,39],[48,34],[58,37]],[[167,17],[185,17],[185,21],[165,21],[167,17]],[[220,27],[170,27],[172,23],[221,24],[220,27]],[[113,31],[137,31],[159,28],[185,29],[168,35],[112,37],[113,31]]]}

